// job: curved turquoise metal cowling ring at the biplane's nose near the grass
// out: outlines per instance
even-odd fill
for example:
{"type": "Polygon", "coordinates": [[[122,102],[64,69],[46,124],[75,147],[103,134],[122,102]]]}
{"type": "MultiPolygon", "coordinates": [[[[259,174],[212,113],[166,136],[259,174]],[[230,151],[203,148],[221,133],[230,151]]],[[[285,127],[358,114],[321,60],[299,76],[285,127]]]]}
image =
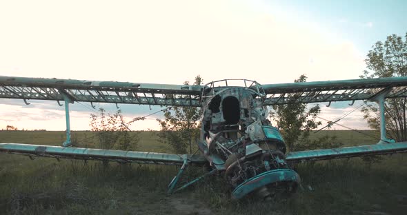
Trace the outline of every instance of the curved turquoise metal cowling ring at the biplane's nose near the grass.
{"type": "Polygon", "coordinates": [[[232,197],[236,199],[243,198],[247,194],[258,190],[260,187],[283,182],[291,183],[293,187],[298,187],[301,184],[301,179],[294,170],[270,170],[249,178],[248,180],[244,181],[244,183],[241,183],[241,185],[237,186],[235,190],[233,190],[232,197]]]}

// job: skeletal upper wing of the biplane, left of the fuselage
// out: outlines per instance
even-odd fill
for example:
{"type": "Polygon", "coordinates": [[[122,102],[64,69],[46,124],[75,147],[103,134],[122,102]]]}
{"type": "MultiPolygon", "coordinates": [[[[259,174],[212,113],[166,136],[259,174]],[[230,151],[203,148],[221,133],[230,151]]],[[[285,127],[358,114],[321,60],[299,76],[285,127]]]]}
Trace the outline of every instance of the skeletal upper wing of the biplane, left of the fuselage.
{"type": "Polygon", "coordinates": [[[200,106],[203,86],[0,76],[0,98],[200,106]],[[182,95],[182,96],[179,96],[182,95]],[[180,98],[181,97],[181,98],[180,98]]]}

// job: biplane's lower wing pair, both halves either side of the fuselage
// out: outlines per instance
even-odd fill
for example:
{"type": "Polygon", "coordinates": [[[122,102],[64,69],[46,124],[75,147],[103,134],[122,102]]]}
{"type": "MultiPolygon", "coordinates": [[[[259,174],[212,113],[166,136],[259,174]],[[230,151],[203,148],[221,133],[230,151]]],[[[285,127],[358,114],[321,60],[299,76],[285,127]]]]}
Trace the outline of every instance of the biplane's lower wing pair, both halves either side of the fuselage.
{"type": "MultiPolygon", "coordinates": [[[[166,154],[155,152],[134,152],[123,150],[101,150],[82,147],[61,147],[53,145],[31,145],[23,143],[0,143],[0,152],[26,156],[44,156],[96,161],[116,161],[119,163],[146,163],[161,165],[183,165],[184,162],[204,165],[206,158],[190,154],[166,154]]],[[[407,152],[407,142],[359,145],[325,150],[308,150],[286,154],[288,163],[350,158],[377,154],[407,152]]]]}

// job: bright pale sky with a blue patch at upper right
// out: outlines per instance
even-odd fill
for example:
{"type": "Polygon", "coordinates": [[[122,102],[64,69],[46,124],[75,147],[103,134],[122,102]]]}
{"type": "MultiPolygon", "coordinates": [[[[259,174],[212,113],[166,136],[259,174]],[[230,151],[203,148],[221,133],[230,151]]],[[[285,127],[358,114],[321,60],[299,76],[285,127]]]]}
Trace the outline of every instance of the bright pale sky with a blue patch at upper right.
{"type": "MultiPolygon", "coordinates": [[[[376,41],[406,34],[406,8],[402,0],[0,1],[0,74],[176,84],[197,74],[204,82],[357,79],[376,41]]],[[[336,119],[357,104],[332,106],[321,116],[336,119]]],[[[88,130],[90,106],[71,107],[72,130],[88,130]]],[[[128,119],[159,110],[120,107],[128,119]]],[[[159,116],[132,128],[158,129],[159,116]]],[[[340,123],[366,128],[359,111],[340,123]]],[[[1,99],[6,125],[65,130],[63,107],[1,99]]]]}

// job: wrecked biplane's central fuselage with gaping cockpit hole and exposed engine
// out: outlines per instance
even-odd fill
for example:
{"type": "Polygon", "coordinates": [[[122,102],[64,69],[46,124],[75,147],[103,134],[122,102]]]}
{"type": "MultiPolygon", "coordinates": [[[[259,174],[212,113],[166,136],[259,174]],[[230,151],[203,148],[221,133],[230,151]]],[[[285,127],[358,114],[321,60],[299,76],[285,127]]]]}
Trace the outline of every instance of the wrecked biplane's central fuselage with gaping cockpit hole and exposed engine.
{"type": "Polygon", "coordinates": [[[214,87],[206,90],[203,99],[199,149],[212,167],[224,170],[235,198],[239,192],[246,195],[255,190],[268,198],[269,187],[277,184],[290,191],[297,188],[299,176],[285,161],[286,145],[267,119],[265,96],[259,88],[214,87]],[[276,179],[276,175],[283,176],[276,179]]]}

